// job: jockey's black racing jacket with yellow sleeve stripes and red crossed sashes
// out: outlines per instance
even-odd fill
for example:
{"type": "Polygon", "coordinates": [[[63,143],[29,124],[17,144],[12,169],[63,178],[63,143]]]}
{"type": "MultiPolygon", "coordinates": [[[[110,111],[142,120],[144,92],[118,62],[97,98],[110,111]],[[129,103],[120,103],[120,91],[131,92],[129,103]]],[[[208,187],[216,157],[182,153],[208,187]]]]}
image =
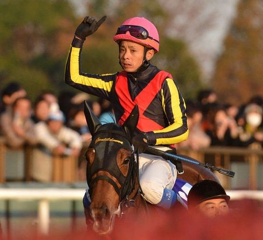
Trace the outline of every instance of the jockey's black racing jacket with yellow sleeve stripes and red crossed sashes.
{"type": "Polygon", "coordinates": [[[151,145],[171,145],[187,139],[185,103],[170,73],[153,65],[137,73],[84,73],[82,44],[75,40],[72,45],[65,69],[67,84],[109,100],[120,125],[137,104],[140,114],[137,128],[147,132],[151,145]]]}

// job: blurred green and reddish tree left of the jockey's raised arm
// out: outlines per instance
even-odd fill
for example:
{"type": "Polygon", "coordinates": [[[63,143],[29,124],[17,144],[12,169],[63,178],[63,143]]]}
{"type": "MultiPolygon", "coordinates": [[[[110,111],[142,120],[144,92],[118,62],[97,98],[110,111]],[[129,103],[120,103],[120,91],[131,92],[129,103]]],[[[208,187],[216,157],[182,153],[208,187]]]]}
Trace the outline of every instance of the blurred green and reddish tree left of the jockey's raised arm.
{"type": "Polygon", "coordinates": [[[63,79],[72,25],[73,12],[66,0],[2,0],[2,84],[21,83],[32,99],[43,89],[58,89],[54,86],[63,79]]]}

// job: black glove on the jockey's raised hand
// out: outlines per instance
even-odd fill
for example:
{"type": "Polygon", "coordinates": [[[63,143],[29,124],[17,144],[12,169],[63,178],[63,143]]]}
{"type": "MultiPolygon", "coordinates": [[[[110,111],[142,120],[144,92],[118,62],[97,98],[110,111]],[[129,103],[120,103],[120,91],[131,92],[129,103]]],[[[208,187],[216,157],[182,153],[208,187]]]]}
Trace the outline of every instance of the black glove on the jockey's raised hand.
{"type": "Polygon", "coordinates": [[[75,35],[83,41],[86,40],[86,36],[96,32],[99,26],[106,20],[107,16],[103,16],[98,22],[93,16],[85,16],[82,23],[77,27],[75,35]]]}

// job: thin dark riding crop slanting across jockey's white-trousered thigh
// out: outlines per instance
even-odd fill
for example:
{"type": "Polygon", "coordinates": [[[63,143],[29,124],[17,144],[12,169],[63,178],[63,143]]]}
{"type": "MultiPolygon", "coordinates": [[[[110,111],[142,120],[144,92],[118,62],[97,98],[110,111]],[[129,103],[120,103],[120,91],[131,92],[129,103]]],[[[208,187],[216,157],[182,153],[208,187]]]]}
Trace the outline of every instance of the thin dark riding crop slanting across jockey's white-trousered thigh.
{"type": "Polygon", "coordinates": [[[222,168],[217,168],[215,166],[212,166],[210,163],[201,163],[196,161],[194,158],[191,157],[186,157],[186,156],[182,156],[182,155],[178,155],[178,154],[172,154],[172,153],[167,153],[165,151],[159,150],[159,149],[155,149],[152,146],[148,146],[146,149],[147,152],[160,156],[166,160],[180,160],[180,161],[185,161],[185,162],[190,162],[193,164],[197,164],[197,165],[201,165],[204,168],[208,168],[210,170],[216,170],[221,174],[230,176],[230,177],[234,177],[235,176],[235,172],[227,170],[227,169],[222,169],[222,168]]]}

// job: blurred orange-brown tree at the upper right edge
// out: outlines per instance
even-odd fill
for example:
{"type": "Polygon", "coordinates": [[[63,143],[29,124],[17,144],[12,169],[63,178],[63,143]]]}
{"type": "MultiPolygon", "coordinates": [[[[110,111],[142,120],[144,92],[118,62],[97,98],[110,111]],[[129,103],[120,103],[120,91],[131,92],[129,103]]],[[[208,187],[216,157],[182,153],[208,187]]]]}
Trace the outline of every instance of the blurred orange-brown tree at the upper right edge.
{"type": "Polygon", "coordinates": [[[262,16],[262,1],[240,1],[212,79],[221,101],[242,104],[253,95],[262,96],[262,16]]]}

